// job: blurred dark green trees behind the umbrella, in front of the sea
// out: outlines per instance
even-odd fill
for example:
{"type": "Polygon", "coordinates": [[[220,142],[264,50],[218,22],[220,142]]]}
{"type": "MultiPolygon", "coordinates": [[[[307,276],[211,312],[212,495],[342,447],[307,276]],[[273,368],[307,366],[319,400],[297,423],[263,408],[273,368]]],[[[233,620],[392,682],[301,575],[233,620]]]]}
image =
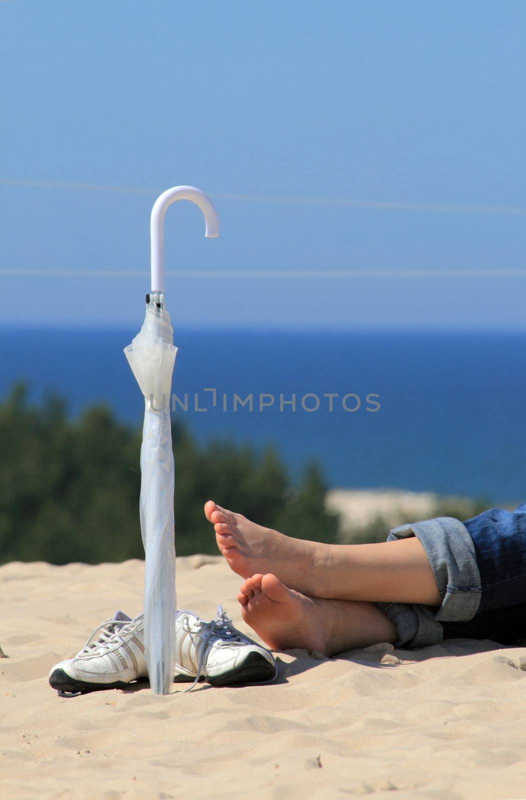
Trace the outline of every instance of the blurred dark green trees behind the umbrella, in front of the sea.
{"type": "MultiPolygon", "coordinates": [[[[298,486],[272,448],[198,446],[174,423],[178,555],[217,553],[203,514],[209,498],[290,536],[337,541],[319,468],[298,486]]],[[[27,401],[23,384],[0,403],[0,562],[97,563],[142,558],[138,502],[141,430],[106,406],[70,419],[66,402],[27,401]]]]}

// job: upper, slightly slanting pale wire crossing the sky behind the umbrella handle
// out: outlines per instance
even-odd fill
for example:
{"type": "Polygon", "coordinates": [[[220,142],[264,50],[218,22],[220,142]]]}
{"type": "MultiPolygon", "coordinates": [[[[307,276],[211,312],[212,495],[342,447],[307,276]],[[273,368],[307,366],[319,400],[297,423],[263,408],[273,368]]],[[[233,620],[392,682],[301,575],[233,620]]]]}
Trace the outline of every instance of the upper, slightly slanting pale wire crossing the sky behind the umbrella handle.
{"type": "MultiPolygon", "coordinates": [[[[0,0],[2,2],[2,0],[0,0]]],[[[66,181],[36,181],[26,178],[0,178],[0,185],[33,189],[58,189],[82,192],[110,192],[115,194],[160,194],[163,186],[118,186],[66,181]]],[[[451,203],[390,202],[377,200],[351,200],[349,198],[304,197],[283,194],[231,194],[210,192],[216,200],[233,202],[269,203],[287,206],[329,206],[333,208],[363,208],[377,211],[420,211],[438,214],[496,214],[508,217],[526,216],[520,206],[474,206],[451,203]]]]}

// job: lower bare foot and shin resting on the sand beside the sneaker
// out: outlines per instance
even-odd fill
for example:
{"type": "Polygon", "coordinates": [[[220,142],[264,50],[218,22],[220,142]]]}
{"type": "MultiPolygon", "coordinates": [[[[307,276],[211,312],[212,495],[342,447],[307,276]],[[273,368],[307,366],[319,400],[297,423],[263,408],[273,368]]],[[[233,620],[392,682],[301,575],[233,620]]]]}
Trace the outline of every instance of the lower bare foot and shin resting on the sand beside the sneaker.
{"type": "Polygon", "coordinates": [[[247,625],[273,650],[304,647],[331,656],[396,642],[396,627],[373,603],[309,598],[272,574],[253,575],[237,599],[247,625]]]}

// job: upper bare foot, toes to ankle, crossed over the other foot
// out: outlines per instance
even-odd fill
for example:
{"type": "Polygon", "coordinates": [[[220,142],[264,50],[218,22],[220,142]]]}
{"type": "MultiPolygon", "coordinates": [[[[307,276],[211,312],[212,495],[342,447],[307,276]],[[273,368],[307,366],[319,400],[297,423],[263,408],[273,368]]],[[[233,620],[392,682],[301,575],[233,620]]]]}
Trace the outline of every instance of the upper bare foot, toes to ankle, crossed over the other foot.
{"type": "Polygon", "coordinates": [[[316,595],[314,570],[326,558],[328,545],[284,536],[209,500],[205,515],[213,523],[217,546],[241,578],[272,572],[287,586],[316,595]]]}

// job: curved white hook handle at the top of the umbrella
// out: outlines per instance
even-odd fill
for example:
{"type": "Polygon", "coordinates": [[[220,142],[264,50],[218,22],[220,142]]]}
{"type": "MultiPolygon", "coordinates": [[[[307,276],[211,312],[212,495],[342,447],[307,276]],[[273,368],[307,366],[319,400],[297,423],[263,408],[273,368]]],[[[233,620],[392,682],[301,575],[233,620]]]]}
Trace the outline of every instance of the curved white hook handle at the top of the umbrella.
{"type": "Polygon", "coordinates": [[[152,253],[152,291],[165,290],[165,213],[168,206],[176,200],[191,200],[199,206],[205,218],[205,236],[219,236],[219,219],[213,202],[195,186],[173,186],[167,189],[153,203],[149,234],[152,253]]]}

